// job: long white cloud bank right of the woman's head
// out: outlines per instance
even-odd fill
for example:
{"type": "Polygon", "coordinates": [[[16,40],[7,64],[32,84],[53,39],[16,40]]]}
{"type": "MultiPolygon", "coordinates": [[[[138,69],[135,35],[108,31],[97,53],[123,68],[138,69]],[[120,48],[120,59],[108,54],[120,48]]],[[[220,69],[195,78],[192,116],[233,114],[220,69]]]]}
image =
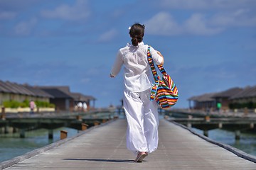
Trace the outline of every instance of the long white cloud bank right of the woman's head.
{"type": "Polygon", "coordinates": [[[178,21],[168,12],[159,12],[145,21],[146,33],[151,35],[217,35],[232,27],[255,27],[255,11],[237,9],[209,13],[191,13],[178,21]]]}

